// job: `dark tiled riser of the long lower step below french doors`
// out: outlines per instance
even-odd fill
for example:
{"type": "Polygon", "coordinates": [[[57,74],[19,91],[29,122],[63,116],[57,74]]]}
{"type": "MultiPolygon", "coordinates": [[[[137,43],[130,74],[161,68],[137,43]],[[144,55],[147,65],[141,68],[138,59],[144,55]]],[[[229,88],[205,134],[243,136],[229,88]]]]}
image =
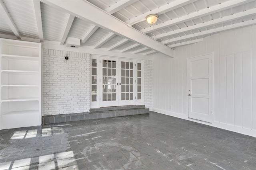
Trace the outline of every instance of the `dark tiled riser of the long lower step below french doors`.
{"type": "Polygon", "coordinates": [[[101,119],[107,117],[120,117],[128,115],[140,115],[149,113],[148,108],[126,109],[126,110],[113,110],[113,111],[99,111],[88,113],[72,113],[65,115],[47,115],[42,117],[42,124],[50,123],[64,123],[70,121],[101,119]]]}

